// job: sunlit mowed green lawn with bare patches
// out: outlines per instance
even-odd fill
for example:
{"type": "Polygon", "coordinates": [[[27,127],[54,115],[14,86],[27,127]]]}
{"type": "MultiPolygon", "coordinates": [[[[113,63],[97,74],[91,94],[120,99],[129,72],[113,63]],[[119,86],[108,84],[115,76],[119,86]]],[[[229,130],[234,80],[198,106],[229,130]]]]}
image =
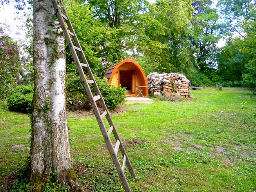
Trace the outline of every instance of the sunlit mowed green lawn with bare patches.
{"type": "MultiPolygon", "coordinates": [[[[207,87],[191,90],[189,100],[125,104],[125,111],[114,113],[122,141],[141,141],[125,148],[137,175],[131,178],[125,169],[132,191],[254,192],[256,95],[250,99],[252,91],[207,87]]],[[[71,155],[85,190],[123,192],[95,117],[67,114],[71,155]]],[[[29,123],[26,114],[0,112],[1,177],[25,164],[29,123]]]]}

